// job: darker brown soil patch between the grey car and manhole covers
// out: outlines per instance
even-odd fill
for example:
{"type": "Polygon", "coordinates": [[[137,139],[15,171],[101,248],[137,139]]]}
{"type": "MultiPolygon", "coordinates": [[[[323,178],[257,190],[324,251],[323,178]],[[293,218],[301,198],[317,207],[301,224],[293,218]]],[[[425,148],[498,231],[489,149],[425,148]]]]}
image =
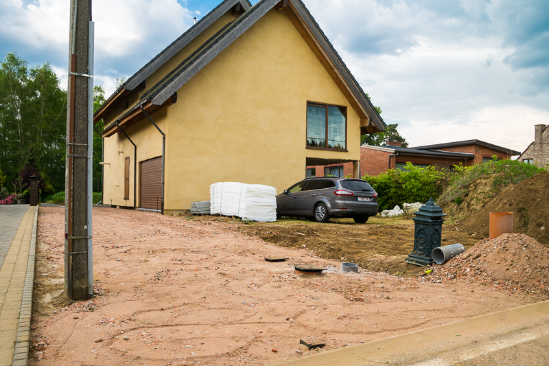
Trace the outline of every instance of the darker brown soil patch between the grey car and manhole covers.
{"type": "MultiPolygon", "coordinates": [[[[231,220],[207,216],[199,220],[231,220]]],[[[414,221],[403,218],[370,218],[366,225],[352,219],[331,219],[330,225],[306,220],[279,220],[271,224],[251,222],[237,225],[239,233],[294,249],[309,249],[321,258],[352,262],[372,272],[417,275],[421,267],[404,260],[414,248],[414,221]]],[[[461,243],[470,248],[478,233],[460,229],[452,220],[443,225],[442,245],[461,243]]]]}

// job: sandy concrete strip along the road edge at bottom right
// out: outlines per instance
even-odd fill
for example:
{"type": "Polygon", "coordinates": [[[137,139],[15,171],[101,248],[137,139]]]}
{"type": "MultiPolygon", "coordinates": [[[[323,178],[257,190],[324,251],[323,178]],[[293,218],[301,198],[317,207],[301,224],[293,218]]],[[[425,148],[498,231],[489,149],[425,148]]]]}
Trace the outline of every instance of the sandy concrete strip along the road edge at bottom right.
{"type": "MultiPolygon", "coordinates": [[[[521,332],[549,333],[549,301],[478,315],[360,345],[329,350],[271,366],[453,365],[464,362],[456,353],[491,347],[521,332]],[[455,362],[454,362],[455,361],[455,362]]],[[[519,344],[519,343],[514,343],[519,344]]]]}

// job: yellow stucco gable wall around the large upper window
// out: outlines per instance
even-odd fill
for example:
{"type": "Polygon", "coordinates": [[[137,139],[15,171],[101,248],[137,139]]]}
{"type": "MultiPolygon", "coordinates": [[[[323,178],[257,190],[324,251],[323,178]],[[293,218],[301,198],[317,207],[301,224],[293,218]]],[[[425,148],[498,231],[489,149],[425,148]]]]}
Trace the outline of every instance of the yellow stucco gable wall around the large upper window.
{"type": "Polygon", "coordinates": [[[179,89],[167,117],[167,210],[209,200],[220,181],[282,192],[303,179],[307,157],[360,159],[358,114],[274,9],[179,89]],[[347,106],[347,152],[306,148],[307,101],[347,106]]]}

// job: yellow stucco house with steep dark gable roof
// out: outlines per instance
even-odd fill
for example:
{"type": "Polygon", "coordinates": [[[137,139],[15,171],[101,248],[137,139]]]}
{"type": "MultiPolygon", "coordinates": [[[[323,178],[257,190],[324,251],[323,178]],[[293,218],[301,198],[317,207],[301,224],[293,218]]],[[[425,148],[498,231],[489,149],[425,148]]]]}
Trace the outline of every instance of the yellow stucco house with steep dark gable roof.
{"type": "Polygon", "coordinates": [[[282,192],[385,124],[300,0],[225,0],[129,78],[104,120],[103,202],[171,214],[220,181],[282,192]]]}

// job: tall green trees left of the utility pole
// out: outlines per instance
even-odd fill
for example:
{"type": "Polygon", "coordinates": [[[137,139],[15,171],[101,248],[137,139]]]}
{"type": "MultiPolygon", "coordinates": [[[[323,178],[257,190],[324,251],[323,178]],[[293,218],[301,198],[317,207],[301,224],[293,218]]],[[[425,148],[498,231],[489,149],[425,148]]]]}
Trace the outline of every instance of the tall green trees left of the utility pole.
{"type": "Polygon", "coordinates": [[[66,121],[67,92],[49,62],[29,68],[15,52],[7,54],[0,65],[0,170],[7,182],[30,165],[63,189],[66,121]]]}

